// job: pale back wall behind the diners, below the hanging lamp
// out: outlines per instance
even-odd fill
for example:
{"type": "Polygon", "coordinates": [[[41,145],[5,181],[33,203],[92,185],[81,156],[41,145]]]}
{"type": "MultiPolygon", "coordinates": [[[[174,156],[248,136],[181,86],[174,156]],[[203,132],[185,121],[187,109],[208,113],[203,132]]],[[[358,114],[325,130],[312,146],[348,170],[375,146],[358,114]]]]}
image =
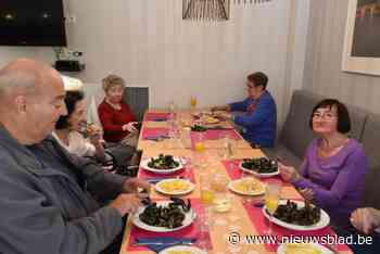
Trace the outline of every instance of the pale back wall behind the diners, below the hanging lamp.
{"type": "MultiPolygon", "coordinates": [[[[150,86],[151,105],[175,99],[189,105],[220,104],[245,96],[245,76],[264,71],[279,107],[280,123],[293,89],[303,79],[309,0],[232,4],[231,20],[181,20],[181,0],[64,0],[68,45],[84,52],[78,76],[88,93],[109,73],[129,85],[150,86]]],[[[0,65],[17,56],[53,61],[49,48],[2,48],[0,65]]]]}

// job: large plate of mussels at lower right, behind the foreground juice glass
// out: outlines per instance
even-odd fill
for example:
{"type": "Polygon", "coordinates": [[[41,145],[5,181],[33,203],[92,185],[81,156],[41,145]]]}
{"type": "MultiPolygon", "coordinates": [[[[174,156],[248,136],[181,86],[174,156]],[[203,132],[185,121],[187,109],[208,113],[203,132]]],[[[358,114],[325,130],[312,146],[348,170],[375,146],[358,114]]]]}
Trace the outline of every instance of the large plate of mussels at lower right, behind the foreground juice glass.
{"type": "MultiPolygon", "coordinates": [[[[263,207],[263,213],[269,219],[269,214],[265,206],[263,207]]],[[[330,224],[330,217],[324,209],[311,202],[280,200],[271,221],[288,229],[306,231],[327,227],[330,224]]]]}

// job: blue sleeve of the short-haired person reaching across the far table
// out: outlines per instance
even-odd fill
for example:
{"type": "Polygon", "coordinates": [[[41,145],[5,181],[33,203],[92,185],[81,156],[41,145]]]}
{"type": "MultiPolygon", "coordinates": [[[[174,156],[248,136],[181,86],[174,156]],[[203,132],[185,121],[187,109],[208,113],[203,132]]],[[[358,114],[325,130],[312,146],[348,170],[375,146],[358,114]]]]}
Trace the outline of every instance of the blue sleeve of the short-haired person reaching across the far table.
{"type": "Polygon", "coordinates": [[[276,105],[270,98],[262,99],[253,114],[251,115],[238,115],[235,117],[233,122],[237,125],[243,126],[245,128],[251,126],[261,125],[265,119],[274,117],[276,114],[276,105]]]}

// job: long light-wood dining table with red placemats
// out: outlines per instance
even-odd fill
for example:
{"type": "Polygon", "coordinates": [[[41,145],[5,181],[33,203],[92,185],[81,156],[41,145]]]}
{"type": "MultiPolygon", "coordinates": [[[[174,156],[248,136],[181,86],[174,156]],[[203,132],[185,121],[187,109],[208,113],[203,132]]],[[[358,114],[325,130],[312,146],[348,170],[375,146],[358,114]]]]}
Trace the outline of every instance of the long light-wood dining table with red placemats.
{"type": "MultiPolygon", "coordinates": [[[[179,129],[187,127],[181,126],[181,118],[191,117],[190,111],[181,111],[176,113],[177,123],[179,123],[179,129]],[[186,116],[188,114],[188,116],[186,116]],[[186,116],[186,117],[185,117],[186,116]]],[[[188,144],[186,144],[186,140],[183,137],[173,138],[170,137],[169,129],[172,128],[169,118],[173,117],[168,112],[161,110],[149,110],[143,118],[138,149],[142,150],[142,158],[141,162],[145,158],[157,156],[159,154],[170,154],[173,156],[181,157],[188,161],[193,161],[198,155],[195,151],[193,151],[193,145],[191,144],[191,132],[189,137],[190,140],[188,144]],[[156,139],[155,137],[163,137],[162,139],[156,139]],[[183,144],[185,143],[185,144],[183,144]]],[[[219,123],[220,124],[220,123],[219,123]]],[[[224,126],[231,126],[230,123],[223,123],[224,126]]],[[[178,128],[177,126],[177,128],[178,128]]],[[[227,191],[227,195],[230,199],[231,209],[220,213],[215,209],[208,208],[205,209],[204,205],[202,205],[201,200],[201,191],[200,191],[200,176],[208,175],[210,178],[214,175],[225,176],[229,180],[239,179],[244,174],[239,169],[239,162],[242,158],[255,158],[255,157],[265,157],[265,154],[259,149],[253,149],[251,145],[232,128],[226,128],[229,131],[233,131],[235,138],[235,148],[233,148],[233,158],[226,158],[224,156],[225,153],[225,140],[223,140],[220,135],[212,134],[210,139],[204,139],[205,150],[202,152],[202,156],[205,157],[205,165],[195,165],[195,163],[191,163],[187,165],[189,168],[185,170],[187,174],[185,177],[191,179],[194,183],[194,190],[183,196],[182,199],[190,199],[194,207],[199,211],[203,211],[200,213],[206,213],[206,216],[198,216],[193,221],[193,225],[188,228],[180,229],[178,232],[166,233],[168,236],[190,236],[200,237],[202,233],[205,233],[207,237],[202,234],[202,239],[207,239],[206,244],[202,244],[204,249],[207,249],[207,253],[215,254],[224,254],[224,253],[243,253],[243,254],[255,254],[255,253],[276,253],[278,244],[277,243],[246,243],[243,241],[245,236],[263,236],[265,234],[268,228],[268,220],[264,217],[262,207],[256,205],[262,202],[264,196],[253,196],[248,198],[244,195],[239,195],[233,192],[227,191]],[[207,211],[207,212],[205,212],[207,211]],[[203,220],[202,220],[203,219],[203,220]],[[207,221],[204,221],[207,220],[207,221]],[[202,225],[207,225],[206,230],[202,225]],[[202,229],[202,232],[198,232],[202,229]],[[204,232],[206,231],[206,232],[204,232]],[[231,244],[231,236],[235,238],[239,237],[238,243],[231,244]]],[[[188,129],[186,129],[188,130],[188,129]]],[[[220,130],[221,131],[221,130],[220,130]]],[[[138,177],[148,178],[149,174],[144,173],[141,168],[138,173],[138,177]]],[[[178,176],[177,176],[178,177],[178,176]]],[[[280,180],[280,178],[274,177],[276,180],[280,180]]],[[[266,179],[270,180],[270,179],[266,179]]],[[[265,181],[265,180],[263,180],[265,181]]],[[[281,189],[281,199],[290,199],[290,200],[302,200],[302,196],[299,192],[291,186],[290,183],[282,183],[281,189]]],[[[152,200],[166,200],[167,195],[160,194],[152,187],[151,192],[152,200]]],[[[274,234],[275,236],[324,236],[324,234],[333,234],[333,231],[328,227],[318,231],[292,231],[283,229],[279,226],[274,225],[274,234]]],[[[121,247],[121,254],[126,253],[154,253],[150,249],[145,246],[136,246],[135,240],[141,237],[165,237],[165,233],[152,233],[149,231],[144,231],[143,229],[139,229],[134,226],[132,216],[129,216],[126,223],[123,243],[121,247]]],[[[195,242],[197,243],[197,242],[195,242]]],[[[204,243],[204,242],[203,242],[204,243]]],[[[197,245],[197,244],[195,244],[197,245]]],[[[331,247],[331,245],[330,245],[331,247]]],[[[351,250],[342,244],[333,246],[335,253],[352,253],[351,250]]]]}

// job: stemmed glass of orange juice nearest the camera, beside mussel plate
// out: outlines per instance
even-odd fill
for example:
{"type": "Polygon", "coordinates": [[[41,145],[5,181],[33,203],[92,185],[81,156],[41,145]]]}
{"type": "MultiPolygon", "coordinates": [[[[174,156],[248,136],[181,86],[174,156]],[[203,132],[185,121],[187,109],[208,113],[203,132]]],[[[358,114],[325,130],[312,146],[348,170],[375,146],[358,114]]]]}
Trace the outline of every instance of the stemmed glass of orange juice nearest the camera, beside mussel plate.
{"type": "Polygon", "coordinates": [[[266,231],[266,233],[269,236],[273,234],[271,218],[278,207],[281,187],[282,187],[281,181],[278,181],[278,180],[273,180],[267,182],[266,192],[265,192],[265,209],[269,214],[269,228],[266,231]]]}

